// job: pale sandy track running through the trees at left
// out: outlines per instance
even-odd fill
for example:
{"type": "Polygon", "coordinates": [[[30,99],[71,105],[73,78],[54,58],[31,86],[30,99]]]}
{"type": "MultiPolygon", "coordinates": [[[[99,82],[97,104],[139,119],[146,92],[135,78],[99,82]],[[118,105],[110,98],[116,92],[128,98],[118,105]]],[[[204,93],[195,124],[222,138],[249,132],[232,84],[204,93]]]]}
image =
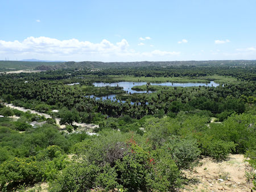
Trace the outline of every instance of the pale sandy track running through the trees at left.
{"type": "MultiPolygon", "coordinates": [[[[24,108],[24,107],[17,107],[17,106],[14,106],[13,104],[5,103],[5,106],[6,107],[10,107],[10,108],[15,108],[15,109],[17,109],[19,111],[23,111],[23,112],[30,111],[31,114],[37,114],[37,115],[40,115],[40,116],[44,116],[45,118],[52,118],[51,115],[45,114],[43,112],[38,112],[38,111],[35,111],[35,110],[30,110],[30,109],[27,109],[27,108],[24,108]]],[[[60,126],[60,128],[62,128],[62,129],[65,128],[65,125],[61,125],[60,124],[60,118],[56,118],[55,120],[56,120],[56,124],[58,126],[60,126]]],[[[98,127],[97,124],[77,123],[77,122],[74,122],[73,125],[81,126],[82,128],[90,128],[90,129],[94,129],[94,128],[98,127]]]]}

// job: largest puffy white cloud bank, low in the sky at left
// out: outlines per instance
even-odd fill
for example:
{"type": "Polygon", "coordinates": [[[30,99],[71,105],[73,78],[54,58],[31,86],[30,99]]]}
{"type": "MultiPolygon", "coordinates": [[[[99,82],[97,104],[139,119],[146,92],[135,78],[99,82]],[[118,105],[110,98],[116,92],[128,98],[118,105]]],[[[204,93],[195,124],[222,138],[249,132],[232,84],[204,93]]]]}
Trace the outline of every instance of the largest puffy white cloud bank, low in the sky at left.
{"type": "Polygon", "coordinates": [[[100,43],[79,41],[77,39],[58,40],[49,37],[27,37],[23,41],[0,40],[0,52],[12,53],[46,53],[46,54],[79,54],[79,53],[112,53],[125,52],[129,43],[123,39],[117,44],[104,39],[100,43]]]}

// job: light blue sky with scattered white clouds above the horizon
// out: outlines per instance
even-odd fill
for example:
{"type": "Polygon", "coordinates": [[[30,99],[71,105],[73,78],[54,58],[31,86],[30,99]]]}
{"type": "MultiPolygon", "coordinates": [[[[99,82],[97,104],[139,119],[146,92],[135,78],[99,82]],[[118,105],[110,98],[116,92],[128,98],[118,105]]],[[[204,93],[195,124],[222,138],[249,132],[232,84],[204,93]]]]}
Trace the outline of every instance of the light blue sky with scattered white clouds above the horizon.
{"type": "Polygon", "coordinates": [[[256,1],[0,1],[0,60],[256,59],[256,1]]]}

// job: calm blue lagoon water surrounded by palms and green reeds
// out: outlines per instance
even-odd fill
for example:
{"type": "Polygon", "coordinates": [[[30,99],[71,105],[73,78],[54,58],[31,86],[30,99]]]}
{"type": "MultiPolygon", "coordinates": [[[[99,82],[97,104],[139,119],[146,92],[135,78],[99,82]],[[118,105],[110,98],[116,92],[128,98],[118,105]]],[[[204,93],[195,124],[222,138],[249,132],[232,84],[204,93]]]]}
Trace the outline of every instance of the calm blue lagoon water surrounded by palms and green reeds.
{"type": "MultiPolygon", "coordinates": [[[[130,82],[130,81],[121,81],[121,82],[114,82],[114,83],[104,83],[104,82],[95,82],[93,85],[96,87],[123,87],[123,90],[126,91],[126,93],[153,93],[153,91],[135,91],[132,88],[134,86],[141,86],[141,85],[146,85],[147,82],[130,82]]],[[[216,82],[209,82],[209,83],[172,83],[172,82],[163,82],[163,83],[150,83],[150,85],[160,85],[160,86],[172,86],[172,87],[192,87],[192,86],[213,86],[213,87],[217,87],[220,84],[216,84],[216,82]]],[[[106,95],[106,96],[102,96],[102,97],[96,97],[94,95],[88,95],[86,97],[90,97],[90,98],[95,98],[96,100],[102,99],[107,100],[110,99],[111,101],[117,101],[125,103],[125,101],[120,101],[117,100],[115,98],[115,94],[114,95],[106,95]]],[[[131,102],[131,105],[133,105],[134,102],[131,102]]],[[[140,105],[141,103],[139,103],[140,105]]]]}

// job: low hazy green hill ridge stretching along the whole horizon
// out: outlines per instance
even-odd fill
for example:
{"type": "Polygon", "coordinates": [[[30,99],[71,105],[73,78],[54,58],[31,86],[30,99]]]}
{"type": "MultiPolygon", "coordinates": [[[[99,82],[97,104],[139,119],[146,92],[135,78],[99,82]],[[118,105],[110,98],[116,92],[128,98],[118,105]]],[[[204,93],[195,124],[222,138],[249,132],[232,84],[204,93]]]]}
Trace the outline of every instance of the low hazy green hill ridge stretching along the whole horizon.
{"type": "Polygon", "coordinates": [[[212,60],[212,61],[137,61],[137,62],[101,62],[101,61],[0,61],[0,71],[36,69],[53,70],[63,68],[118,68],[142,66],[255,66],[256,60],[212,60]]]}

